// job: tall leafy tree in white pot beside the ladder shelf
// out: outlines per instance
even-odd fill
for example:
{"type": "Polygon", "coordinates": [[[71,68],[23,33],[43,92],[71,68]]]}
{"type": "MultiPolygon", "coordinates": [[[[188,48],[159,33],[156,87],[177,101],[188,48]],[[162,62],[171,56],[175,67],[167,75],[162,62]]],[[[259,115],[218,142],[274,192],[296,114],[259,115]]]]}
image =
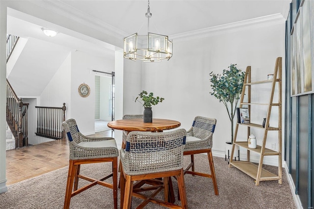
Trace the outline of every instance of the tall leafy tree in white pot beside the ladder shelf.
{"type": "MultiPolygon", "coordinates": [[[[216,97],[219,102],[222,102],[227,109],[229,120],[231,122],[231,142],[228,141],[226,144],[232,145],[234,140],[234,117],[236,105],[242,92],[245,73],[237,69],[236,64],[231,64],[228,68],[228,70],[223,70],[222,75],[214,74],[213,72],[209,73],[209,80],[211,82],[210,87],[212,90],[209,93],[216,97]]],[[[231,149],[226,148],[226,152],[227,149],[229,159],[229,151],[231,149]]]]}

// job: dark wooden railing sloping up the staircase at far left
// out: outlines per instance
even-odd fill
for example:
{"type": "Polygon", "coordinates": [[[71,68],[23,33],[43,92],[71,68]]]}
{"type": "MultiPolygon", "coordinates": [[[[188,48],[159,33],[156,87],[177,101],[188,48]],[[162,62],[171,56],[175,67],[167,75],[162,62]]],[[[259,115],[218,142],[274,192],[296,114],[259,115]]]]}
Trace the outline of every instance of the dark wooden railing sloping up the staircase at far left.
{"type": "Polygon", "coordinates": [[[15,138],[15,148],[28,146],[27,109],[28,103],[17,97],[6,79],[6,122],[15,138]]]}

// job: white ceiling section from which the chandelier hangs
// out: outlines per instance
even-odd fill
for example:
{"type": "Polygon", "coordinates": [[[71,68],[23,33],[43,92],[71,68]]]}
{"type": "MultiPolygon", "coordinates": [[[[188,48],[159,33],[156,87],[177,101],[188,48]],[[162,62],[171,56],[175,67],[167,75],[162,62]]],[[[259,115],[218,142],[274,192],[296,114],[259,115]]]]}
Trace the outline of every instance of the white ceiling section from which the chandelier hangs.
{"type": "MultiPolygon", "coordinates": [[[[287,11],[289,2],[290,0],[150,0],[150,11],[153,14],[150,31],[174,35],[283,14],[287,11]]],[[[127,34],[147,32],[145,13],[148,0],[60,0],[57,4],[91,16],[127,34]]]]}

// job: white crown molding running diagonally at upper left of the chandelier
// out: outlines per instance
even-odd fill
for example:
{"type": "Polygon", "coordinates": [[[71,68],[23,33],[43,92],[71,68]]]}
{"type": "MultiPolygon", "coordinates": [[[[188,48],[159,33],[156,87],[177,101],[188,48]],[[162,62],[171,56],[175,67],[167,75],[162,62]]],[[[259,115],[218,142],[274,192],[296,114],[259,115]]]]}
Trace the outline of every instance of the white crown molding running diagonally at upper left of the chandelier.
{"type": "Polygon", "coordinates": [[[83,24],[85,26],[91,27],[93,29],[99,30],[105,34],[112,35],[114,37],[125,37],[128,34],[114,26],[111,26],[97,18],[92,17],[89,14],[82,13],[80,10],[63,3],[60,0],[28,0],[29,2],[36,4],[42,8],[52,11],[56,14],[62,15],[70,20],[83,24]]]}

